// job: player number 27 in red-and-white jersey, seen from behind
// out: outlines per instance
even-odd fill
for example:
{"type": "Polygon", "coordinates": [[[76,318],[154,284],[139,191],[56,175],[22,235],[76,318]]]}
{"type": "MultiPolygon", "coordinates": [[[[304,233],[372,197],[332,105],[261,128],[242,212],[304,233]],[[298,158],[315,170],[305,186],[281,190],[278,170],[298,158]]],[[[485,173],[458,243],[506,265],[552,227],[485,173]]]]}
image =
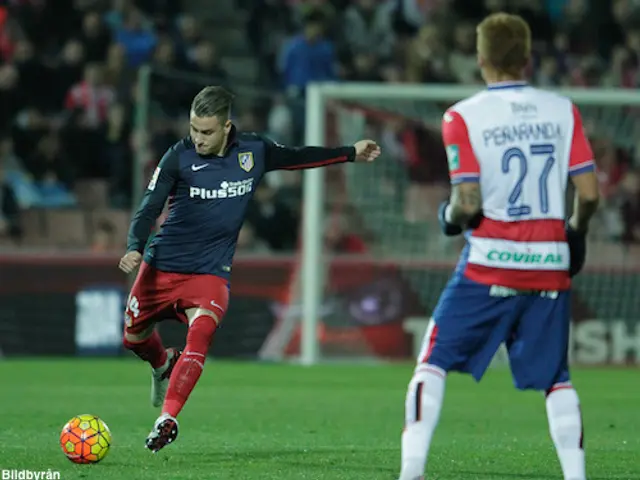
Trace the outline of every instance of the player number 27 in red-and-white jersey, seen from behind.
{"type": "Polygon", "coordinates": [[[451,107],[442,135],[452,195],[446,235],[465,233],[406,397],[400,480],[422,479],[448,372],[479,381],[505,342],[516,388],[544,392],[565,480],[585,480],[582,418],[568,368],[571,277],[585,260],[598,204],[593,153],[578,109],[524,80],[531,32],[516,15],[477,29],[487,83],[451,107]],[[575,207],[565,223],[568,180],[575,207]]]}

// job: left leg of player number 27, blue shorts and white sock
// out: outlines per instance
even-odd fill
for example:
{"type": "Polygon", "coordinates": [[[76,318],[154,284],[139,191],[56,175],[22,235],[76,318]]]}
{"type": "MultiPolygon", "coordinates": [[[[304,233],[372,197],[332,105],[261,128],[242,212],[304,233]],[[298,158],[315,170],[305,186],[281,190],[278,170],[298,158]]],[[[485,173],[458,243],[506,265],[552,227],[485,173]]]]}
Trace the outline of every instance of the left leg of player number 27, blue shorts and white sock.
{"type": "Polygon", "coordinates": [[[480,380],[511,328],[518,299],[492,297],[490,290],[461,280],[442,293],[407,389],[400,480],[422,478],[447,373],[471,373],[480,380]]]}

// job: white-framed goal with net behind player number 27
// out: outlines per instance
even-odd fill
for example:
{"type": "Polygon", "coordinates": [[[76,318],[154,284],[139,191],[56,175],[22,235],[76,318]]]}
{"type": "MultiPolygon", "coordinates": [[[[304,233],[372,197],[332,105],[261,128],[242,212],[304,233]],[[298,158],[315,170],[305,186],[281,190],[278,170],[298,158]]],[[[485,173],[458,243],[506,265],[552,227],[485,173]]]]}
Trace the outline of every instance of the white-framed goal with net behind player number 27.
{"type": "MultiPolygon", "coordinates": [[[[383,155],[368,166],[306,173],[302,309],[282,323],[288,332],[283,338],[293,339],[289,353],[300,353],[309,364],[417,353],[462,247],[461,239],[444,237],[437,224],[438,204],[449,195],[440,122],[449,106],[478,88],[310,88],[308,143],[338,145],[373,138],[383,155]],[[331,222],[339,222],[347,237],[364,239],[366,252],[342,257],[338,253],[344,251],[328,247],[331,222]]],[[[635,362],[640,359],[640,252],[635,244],[640,239],[640,94],[562,93],[582,112],[604,198],[589,234],[588,266],[574,284],[573,360],[635,362]]]]}

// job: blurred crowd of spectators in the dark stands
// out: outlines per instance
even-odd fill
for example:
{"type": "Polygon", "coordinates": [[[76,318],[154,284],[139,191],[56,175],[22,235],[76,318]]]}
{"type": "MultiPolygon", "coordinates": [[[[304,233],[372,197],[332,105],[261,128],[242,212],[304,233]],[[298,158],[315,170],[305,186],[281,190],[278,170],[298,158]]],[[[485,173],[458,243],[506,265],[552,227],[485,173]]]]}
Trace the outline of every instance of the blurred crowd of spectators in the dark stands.
{"type": "MultiPolygon", "coordinates": [[[[34,209],[130,208],[141,188],[133,185],[134,162],[151,171],[164,150],[188,133],[187,106],[205,83],[228,86],[239,97],[259,92],[240,105],[234,121],[287,144],[303,140],[309,82],[480,84],[475,24],[493,11],[517,12],[532,26],[529,73],[536,85],[637,88],[640,82],[638,0],[227,2],[245,12],[244,37],[258,64],[257,85],[238,84],[221,62],[228,56],[224,48],[205,34],[208,25],[199,12],[186,11],[178,0],[3,3],[0,236],[30,244],[32,224],[46,236],[41,220],[24,220],[34,209]],[[135,131],[142,65],[156,73],[148,128],[135,131]]],[[[633,118],[620,109],[617,115],[633,118]]],[[[375,118],[383,146],[411,181],[406,221],[421,221],[427,192],[447,180],[439,134],[413,120],[375,118]]],[[[637,242],[640,151],[599,135],[595,123],[587,126],[605,198],[602,237],[637,242]]],[[[299,200],[299,173],[270,177],[250,208],[240,248],[295,248],[299,200]]],[[[325,229],[329,247],[366,251],[366,229],[354,229],[357,211],[343,202],[332,212],[325,229]]],[[[122,248],[122,218],[77,221],[89,227],[69,246],[122,248]]]]}

